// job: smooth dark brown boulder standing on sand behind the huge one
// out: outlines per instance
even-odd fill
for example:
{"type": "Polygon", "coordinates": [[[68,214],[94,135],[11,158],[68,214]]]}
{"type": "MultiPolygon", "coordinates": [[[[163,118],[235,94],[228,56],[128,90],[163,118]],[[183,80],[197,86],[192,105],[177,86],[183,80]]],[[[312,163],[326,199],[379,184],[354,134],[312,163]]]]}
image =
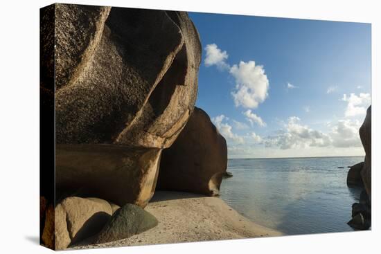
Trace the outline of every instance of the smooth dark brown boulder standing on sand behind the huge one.
{"type": "Polygon", "coordinates": [[[157,188],[215,196],[226,170],[226,140],[195,107],[175,143],[163,150],[157,188]]]}

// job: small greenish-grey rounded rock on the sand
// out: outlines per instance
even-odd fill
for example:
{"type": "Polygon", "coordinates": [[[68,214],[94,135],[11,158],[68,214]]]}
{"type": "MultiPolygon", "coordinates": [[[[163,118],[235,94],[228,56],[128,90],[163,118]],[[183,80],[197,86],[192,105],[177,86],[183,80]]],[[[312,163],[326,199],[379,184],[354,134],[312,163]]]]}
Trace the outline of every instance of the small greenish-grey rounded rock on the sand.
{"type": "Polygon", "coordinates": [[[131,237],[157,226],[157,219],[139,206],[127,203],[117,210],[95,237],[94,244],[131,237]]]}

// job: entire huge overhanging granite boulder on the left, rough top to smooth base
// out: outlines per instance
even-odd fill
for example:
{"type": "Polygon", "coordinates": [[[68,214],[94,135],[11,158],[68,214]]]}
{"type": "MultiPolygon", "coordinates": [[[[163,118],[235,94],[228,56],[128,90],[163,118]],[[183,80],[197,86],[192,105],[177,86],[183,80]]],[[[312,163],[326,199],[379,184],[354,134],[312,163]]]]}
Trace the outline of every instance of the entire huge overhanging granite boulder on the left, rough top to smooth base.
{"type": "Polygon", "coordinates": [[[41,87],[55,96],[56,199],[80,192],[144,207],[161,149],[195,105],[197,30],[186,12],[54,6],[55,89],[49,78],[41,87]]]}

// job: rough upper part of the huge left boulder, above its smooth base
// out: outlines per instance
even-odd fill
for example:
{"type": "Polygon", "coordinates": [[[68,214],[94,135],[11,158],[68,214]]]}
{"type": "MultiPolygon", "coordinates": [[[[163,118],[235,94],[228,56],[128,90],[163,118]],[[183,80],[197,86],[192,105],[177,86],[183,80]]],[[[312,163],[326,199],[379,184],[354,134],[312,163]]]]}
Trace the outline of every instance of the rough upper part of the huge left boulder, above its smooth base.
{"type": "MultiPolygon", "coordinates": [[[[69,8],[59,20],[78,24],[64,33],[76,40],[88,19],[78,21],[82,12],[69,8]]],[[[105,15],[92,12],[101,23],[105,15]]],[[[55,93],[58,144],[171,145],[193,109],[201,59],[200,39],[186,13],[171,15],[177,23],[164,10],[112,8],[103,26],[94,26],[103,33],[94,35],[91,57],[80,49],[78,55],[57,55],[64,63],[82,59],[83,66],[55,93]]],[[[63,41],[57,52],[70,51],[66,37],[56,40],[63,41]]]]}

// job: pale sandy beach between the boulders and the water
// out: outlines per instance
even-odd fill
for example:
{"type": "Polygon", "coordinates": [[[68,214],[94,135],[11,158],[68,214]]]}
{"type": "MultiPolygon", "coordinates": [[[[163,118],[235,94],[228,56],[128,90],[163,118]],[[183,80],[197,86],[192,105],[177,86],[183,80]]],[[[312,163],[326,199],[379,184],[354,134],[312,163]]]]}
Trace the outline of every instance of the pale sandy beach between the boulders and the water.
{"type": "Polygon", "coordinates": [[[220,197],[188,192],[157,191],[145,210],[159,224],[141,234],[106,244],[86,244],[78,248],[106,248],[151,244],[174,244],[283,235],[240,215],[220,197]]]}

